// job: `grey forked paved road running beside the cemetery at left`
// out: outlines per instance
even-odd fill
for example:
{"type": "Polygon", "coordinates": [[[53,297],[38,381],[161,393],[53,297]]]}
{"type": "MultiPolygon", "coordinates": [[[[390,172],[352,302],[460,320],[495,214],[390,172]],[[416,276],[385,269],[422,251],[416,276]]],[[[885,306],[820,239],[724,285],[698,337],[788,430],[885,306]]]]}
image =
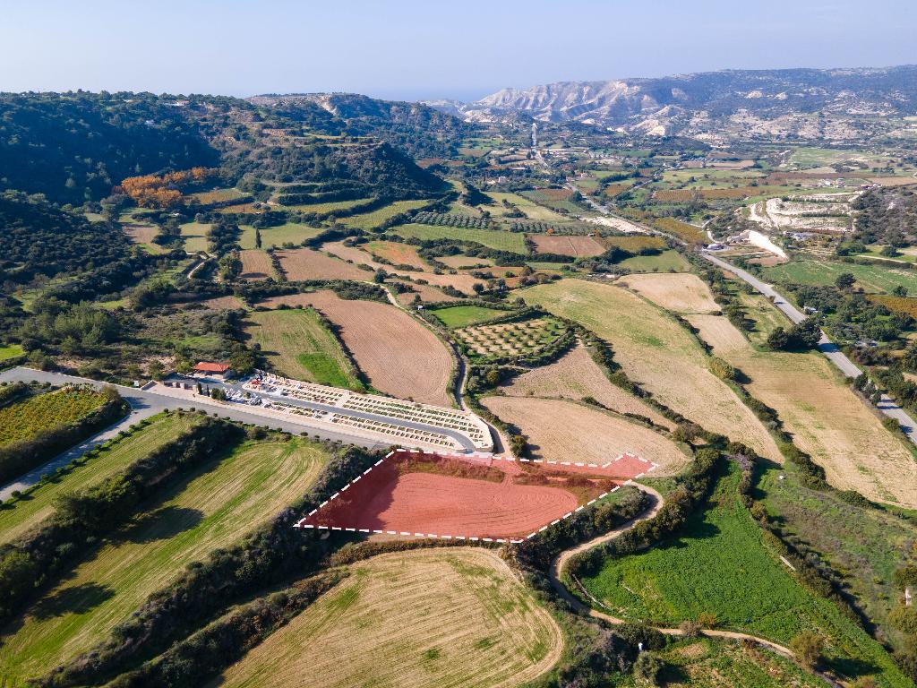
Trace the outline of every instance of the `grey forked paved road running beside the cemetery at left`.
{"type": "MultiPolygon", "coordinates": [[[[61,372],[33,371],[29,368],[11,368],[7,371],[0,372],[0,382],[39,382],[57,385],[91,384],[96,388],[105,386],[105,383],[100,383],[96,380],[90,380],[89,378],[65,375],[61,372]]],[[[366,449],[385,449],[390,444],[373,442],[366,438],[350,435],[346,432],[335,432],[332,430],[327,430],[324,427],[313,427],[307,423],[290,422],[283,420],[282,418],[272,418],[268,416],[252,414],[243,410],[244,407],[238,405],[215,404],[214,402],[208,401],[204,396],[200,397],[200,399],[194,399],[192,401],[189,399],[182,399],[178,397],[166,396],[164,394],[147,392],[144,390],[135,389],[133,387],[125,387],[122,385],[113,386],[116,387],[118,393],[120,393],[121,396],[123,396],[127,401],[127,403],[130,404],[131,413],[128,414],[127,417],[123,420],[118,421],[115,425],[107,427],[102,432],[94,435],[92,438],[86,439],[76,447],[65,451],[60,456],[55,457],[51,461],[48,461],[47,463],[26,473],[25,475],[19,476],[16,481],[4,485],[2,488],[0,488],[0,500],[8,499],[14,490],[23,490],[30,485],[38,483],[39,479],[44,473],[56,471],[61,466],[69,463],[72,459],[78,456],[82,456],[83,453],[89,449],[92,449],[95,445],[101,444],[108,439],[115,437],[118,432],[127,428],[131,424],[137,423],[143,418],[155,416],[156,414],[160,413],[161,411],[165,411],[166,409],[189,408],[190,406],[206,408],[211,409],[215,413],[218,413],[219,416],[228,416],[233,420],[238,420],[241,423],[251,423],[256,426],[277,428],[279,430],[290,432],[296,435],[302,433],[304,430],[308,430],[311,434],[322,439],[327,439],[332,442],[339,440],[346,444],[355,444],[360,447],[365,447],[366,449]]]]}

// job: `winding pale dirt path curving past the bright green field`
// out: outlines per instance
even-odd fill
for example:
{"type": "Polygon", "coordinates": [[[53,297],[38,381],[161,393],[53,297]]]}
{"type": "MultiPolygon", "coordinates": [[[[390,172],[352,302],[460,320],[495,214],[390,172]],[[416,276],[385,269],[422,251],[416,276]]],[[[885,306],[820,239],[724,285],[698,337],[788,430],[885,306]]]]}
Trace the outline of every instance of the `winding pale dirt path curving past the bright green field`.
{"type": "MultiPolygon", "coordinates": [[[[588,616],[591,616],[592,618],[599,618],[599,619],[602,619],[602,621],[607,621],[608,623],[615,624],[615,625],[625,624],[628,622],[625,619],[618,618],[616,616],[611,616],[610,614],[605,614],[604,612],[600,612],[597,609],[593,609],[590,605],[585,605],[584,603],[580,601],[578,597],[576,597],[576,595],[571,594],[569,592],[567,587],[563,583],[560,582],[560,578],[563,575],[563,571],[566,568],[567,563],[574,555],[579,554],[580,552],[584,552],[587,549],[598,547],[599,545],[601,545],[604,542],[608,542],[609,540],[613,540],[614,538],[620,537],[623,533],[630,530],[632,527],[635,526],[635,524],[639,523],[640,521],[646,521],[652,518],[653,516],[656,516],[659,513],[659,509],[661,509],[662,506],[665,505],[666,502],[662,498],[662,495],[659,494],[653,488],[646,487],[646,485],[643,485],[640,483],[631,482],[630,484],[634,485],[636,488],[642,490],[646,494],[649,494],[653,498],[653,504],[650,505],[650,507],[646,509],[646,511],[643,514],[641,514],[640,516],[637,516],[634,520],[630,521],[629,523],[625,523],[624,526],[614,528],[613,530],[609,530],[607,533],[605,533],[604,535],[600,535],[598,538],[593,538],[591,540],[588,540],[587,542],[583,542],[582,544],[577,545],[576,547],[565,549],[564,551],[560,552],[560,554],[558,554],[558,557],[554,561],[551,562],[551,569],[549,572],[550,579],[551,579],[551,585],[553,586],[554,590],[567,603],[569,603],[569,605],[572,606],[577,612],[585,613],[588,616]]],[[[585,590],[583,590],[583,593],[588,595],[588,593],[586,593],[585,590]]],[[[666,627],[655,627],[655,628],[657,629],[657,631],[659,631],[660,633],[666,636],[683,636],[684,635],[684,631],[682,631],[680,628],[666,628],[666,627]]],[[[707,636],[708,638],[729,638],[732,640],[751,640],[752,642],[757,643],[758,645],[761,645],[767,649],[771,649],[777,652],[778,654],[783,655],[784,657],[789,657],[790,659],[793,658],[793,653],[789,648],[786,648],[783,645],[779,645],[778,643],[768,640],[767,638],[758,638],[757,636],[751,636],[751,635],[748,635],[747,633],[739,633],[737,631],[716,630],[713,628],[702,629],[701,634],[703,636],[707,636]]]]}

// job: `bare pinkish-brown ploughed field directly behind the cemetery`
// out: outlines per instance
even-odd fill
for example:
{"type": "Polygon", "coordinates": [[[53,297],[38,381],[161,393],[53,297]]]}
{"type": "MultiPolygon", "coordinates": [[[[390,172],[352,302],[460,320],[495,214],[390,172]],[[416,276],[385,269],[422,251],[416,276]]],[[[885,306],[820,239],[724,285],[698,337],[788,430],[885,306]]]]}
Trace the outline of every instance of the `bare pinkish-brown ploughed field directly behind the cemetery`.
{"type": "Polygon", "coordinates": [[[429,329],[399,308],[346,301],[329,291],[277,296],[265,305],[311,305],[340,327],[340,337],[373,387],[425,404],[451,405],[452,357],[429,329]]]}

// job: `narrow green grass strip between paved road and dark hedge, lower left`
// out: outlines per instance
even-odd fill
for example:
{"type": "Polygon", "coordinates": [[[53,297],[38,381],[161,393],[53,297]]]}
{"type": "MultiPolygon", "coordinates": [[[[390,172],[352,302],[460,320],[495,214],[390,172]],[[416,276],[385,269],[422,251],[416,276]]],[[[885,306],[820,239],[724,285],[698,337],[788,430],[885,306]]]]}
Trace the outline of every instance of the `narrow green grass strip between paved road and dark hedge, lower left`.
{"type": "Polygon", "coordinates": [[[12,507],[0,509],[0,544],[17,538],[50,516],[54,500],[61,494],[79,492],[122,471],[128,464],[177,438],[193,426],[196,417],[191,414],[154,416],[148,427],[119,439],[111,449],[101,451],[98,456],[60,478],[49,483],[39,483],[12,507]]]}

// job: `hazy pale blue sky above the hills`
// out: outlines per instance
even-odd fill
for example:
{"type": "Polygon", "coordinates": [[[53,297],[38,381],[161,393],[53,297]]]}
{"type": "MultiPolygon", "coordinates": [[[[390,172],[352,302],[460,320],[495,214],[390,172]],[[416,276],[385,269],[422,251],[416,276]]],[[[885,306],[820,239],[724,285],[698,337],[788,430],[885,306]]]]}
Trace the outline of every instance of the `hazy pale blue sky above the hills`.
{"type": "Polygon", "coordinates": [[[473,99],[563,80],[915,63],[915,37],[917,0],[0,0],[0,91],[473,99]]]}

